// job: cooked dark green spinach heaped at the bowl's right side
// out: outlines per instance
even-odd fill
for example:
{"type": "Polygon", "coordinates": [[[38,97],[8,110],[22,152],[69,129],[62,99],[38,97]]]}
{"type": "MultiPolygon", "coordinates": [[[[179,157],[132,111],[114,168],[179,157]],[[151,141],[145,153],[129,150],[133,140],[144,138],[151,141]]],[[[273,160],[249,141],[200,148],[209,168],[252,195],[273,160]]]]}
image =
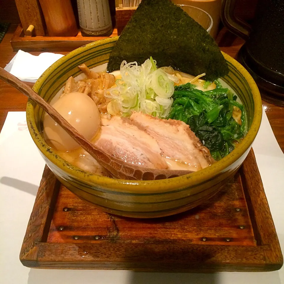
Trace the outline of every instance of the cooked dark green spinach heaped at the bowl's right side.
{"type": "Polygon", "coordinates": [[[200,91],[187,83],[175,87],[174,99],[167,118],[188,124],[215,160],[220,160],[235,148],[235,143],[246,135],[246,110],[236,101],[237,96],[215,80],[217,88],[200,91]],[[242,124],[233,118],[233,106],[242,111],[242,124]]]}

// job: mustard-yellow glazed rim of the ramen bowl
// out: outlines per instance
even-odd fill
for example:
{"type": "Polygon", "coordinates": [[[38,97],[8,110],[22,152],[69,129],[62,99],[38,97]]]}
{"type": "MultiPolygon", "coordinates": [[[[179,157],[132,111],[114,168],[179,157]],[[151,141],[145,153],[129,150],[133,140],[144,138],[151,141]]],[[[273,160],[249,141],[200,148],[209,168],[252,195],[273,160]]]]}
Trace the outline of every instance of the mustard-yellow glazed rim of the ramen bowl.
{"type": "MultiPolygon", "coordinates": [[[[86,51],[91,47],[99,46],[101,43],[106,44],[117,41],[117,39],[118,37],[112,37],[100,41],[95,41],[85,46],[79,47],[78,49],[75,49],[70,53],[64,55],[41,75],[41,77],[33,86],[33,89],[37,92],[47,76],[51,72],[54,72],[59,64],[62,64],[66,60],[69,60],[72,57],[76,56],[79,51],[86,51]]],[[[185,187],[191,187],[204,183],[205,181],[208,181],[223,172],[227,167],[236,162],[250,148],[259,130],[262,118],[262,99],[257,85],[254,82],[254,79],[251,77],[249,72],[235,59],[224,52],[222,52],[222,54],[228,62],[233,64],[237,68],[237,70],[241,72],[241,74],[249,84],[254,100],[254,118],[251,123],[250,129],[246,134],[246,137],[243,138],[239,146],[222,160],[212,164],[209,167],[206,167],[205,169],[190,173],[188,175],[164,180],[122,180],[107,178],[93,174],[91,172],[86,172],[61,158],[53,149],[51,149],[46,144],[36,127],[34,108],[32,106],[32,103],[31,101],[28,101],[26,108],[26,118],[30,135],[32,136],[33,141],[35,142],[41,153],[62,171],[66,172],[70,176],[73,176],[73,178],[82,180],[86,183],[101,188],[108,188],[122,193],[166,193],[169,191],[183,189],[185,187]]]]}

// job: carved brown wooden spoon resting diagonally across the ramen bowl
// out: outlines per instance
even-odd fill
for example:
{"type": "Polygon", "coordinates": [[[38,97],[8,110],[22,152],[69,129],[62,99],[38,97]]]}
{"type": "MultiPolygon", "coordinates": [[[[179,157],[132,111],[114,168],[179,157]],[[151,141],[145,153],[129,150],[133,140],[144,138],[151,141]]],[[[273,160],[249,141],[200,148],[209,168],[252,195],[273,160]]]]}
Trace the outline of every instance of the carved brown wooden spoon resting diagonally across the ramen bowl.
{"type": "Polygon", "coordinates": [[[102,167],[109,170],[115,178],[129,180],[155,180],[173,178],[180,175],[186,175],[191,172],[186,170],[149,169],[125,163],[124,161],[105,153],[88,139],[85,139],[50,104],[35,93],[33,89],[1,67],[0,79],[18,89],[21,93],[45,110],[85,151],[94,157],[102,167]]]}

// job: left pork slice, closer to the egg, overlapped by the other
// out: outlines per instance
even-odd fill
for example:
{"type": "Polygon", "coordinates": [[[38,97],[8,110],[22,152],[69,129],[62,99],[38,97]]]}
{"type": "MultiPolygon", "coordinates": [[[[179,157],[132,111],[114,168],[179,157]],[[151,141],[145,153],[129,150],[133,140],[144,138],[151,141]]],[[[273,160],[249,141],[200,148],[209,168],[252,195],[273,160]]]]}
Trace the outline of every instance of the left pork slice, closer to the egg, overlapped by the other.
{"type": "Polygon", "coordinates": [[[167,169],[157,141],[131,120],[118,116],[101,120],[95,144],[106,153],[142,167],[167,169]]]}

